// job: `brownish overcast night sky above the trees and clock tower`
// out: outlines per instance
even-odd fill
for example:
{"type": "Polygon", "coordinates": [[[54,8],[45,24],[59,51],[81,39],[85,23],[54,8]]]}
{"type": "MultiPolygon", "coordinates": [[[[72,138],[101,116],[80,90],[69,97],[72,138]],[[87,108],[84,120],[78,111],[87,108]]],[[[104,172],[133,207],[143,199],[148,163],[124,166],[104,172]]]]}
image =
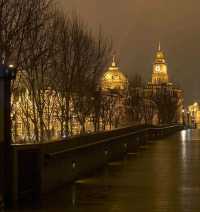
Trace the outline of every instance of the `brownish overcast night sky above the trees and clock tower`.
{"type": "Polygon", "coordinates": [[[150,80],[159,40],[169,77],[185,92],[186,104],[200,100],[200,1],[58,0],[88,25],[112,37],[121,70],[150,80]]]}

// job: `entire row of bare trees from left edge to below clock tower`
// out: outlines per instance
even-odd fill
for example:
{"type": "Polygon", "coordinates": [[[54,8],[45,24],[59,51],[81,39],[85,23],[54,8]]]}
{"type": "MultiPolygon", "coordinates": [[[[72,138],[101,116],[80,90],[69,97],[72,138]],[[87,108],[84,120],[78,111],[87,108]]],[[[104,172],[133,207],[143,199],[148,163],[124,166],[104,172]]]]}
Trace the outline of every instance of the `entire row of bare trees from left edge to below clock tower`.
{"type": "Polygon", "coordinates": [[[102,95],[98,83],[111,40],[55,8],[52,0],[0,0],[0,60],[19,70],[12,85],[14,140],[19,120],[25,139],[34,142],[50,139],[55,128],[60,136],[73,134],[75,122],[84,133],[88,119],[94,131],[118,127],[124,112],[131,123],[151,123],[157,111],[160,123],[172,120],[177,98],[167,90],[147,98],[139,76],[127,95],[102,95]]]}

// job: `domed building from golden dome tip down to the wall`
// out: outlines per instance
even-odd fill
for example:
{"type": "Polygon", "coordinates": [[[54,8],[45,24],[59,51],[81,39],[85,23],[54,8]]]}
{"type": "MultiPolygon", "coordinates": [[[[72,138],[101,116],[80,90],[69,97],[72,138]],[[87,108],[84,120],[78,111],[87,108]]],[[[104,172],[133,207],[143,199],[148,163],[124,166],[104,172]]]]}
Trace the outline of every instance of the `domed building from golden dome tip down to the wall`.
{"type": "MultiPolygon", "coordinates": [[[[126,124],[126,97],[128,95],[128,79],[116,65],[115,57],[111,66],[101,78],[101,94],[104,99],[102,108],[107,105],[110,128],[126,124]],[[109,108],[110,107],[110,108],[109,108]]],[[[102,120],[103,121],[103,120],[102,120]]],[[[105,125],[105,123],[104,123],[105,125]]]]}

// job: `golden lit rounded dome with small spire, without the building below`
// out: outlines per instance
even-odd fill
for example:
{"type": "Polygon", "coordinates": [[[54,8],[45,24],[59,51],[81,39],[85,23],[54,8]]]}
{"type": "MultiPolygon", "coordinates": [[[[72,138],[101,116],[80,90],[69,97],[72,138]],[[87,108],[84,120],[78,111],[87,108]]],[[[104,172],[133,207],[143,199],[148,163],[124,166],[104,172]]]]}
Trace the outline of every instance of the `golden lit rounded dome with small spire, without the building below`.
{"type": "Polygon", "coordinates": [[[112,65],[109,67],[108,71],[104,73],[101,79],[102,90],[126,90],[127,86],[128,80],[116,66],[115,57],[113,57],[112,65]]]}

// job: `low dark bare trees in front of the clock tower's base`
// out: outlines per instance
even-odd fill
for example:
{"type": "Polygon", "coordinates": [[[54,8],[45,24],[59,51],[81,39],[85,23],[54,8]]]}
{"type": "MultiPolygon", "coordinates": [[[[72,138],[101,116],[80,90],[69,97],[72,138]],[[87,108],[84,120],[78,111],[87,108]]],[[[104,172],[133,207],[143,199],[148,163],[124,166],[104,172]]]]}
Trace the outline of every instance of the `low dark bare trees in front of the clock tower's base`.
{"type": "Polygon", "coordinates": [[[127,110],[129,119],[135,123],[170,124],[180,121],[182,91],[166,84],[158,87],[146,86],[140,75],[129,82],[127,110]],[[157,120],[153,120],[156,118],[157,120]]]}

